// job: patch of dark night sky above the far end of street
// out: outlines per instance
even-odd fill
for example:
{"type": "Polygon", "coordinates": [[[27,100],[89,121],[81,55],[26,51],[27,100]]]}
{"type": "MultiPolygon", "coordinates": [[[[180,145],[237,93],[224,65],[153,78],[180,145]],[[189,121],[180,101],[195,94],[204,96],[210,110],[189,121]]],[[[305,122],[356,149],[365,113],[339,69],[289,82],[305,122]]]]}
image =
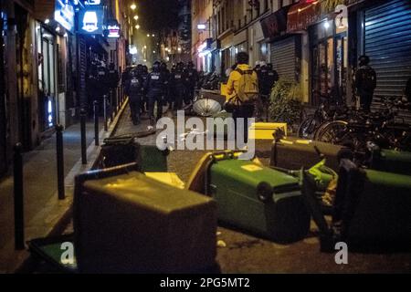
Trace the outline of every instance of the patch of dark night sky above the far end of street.
{"type": "Polygon", "coordinates": [[[142,29],[158,31],[164,27],[176,27],[177,0],[142,0],[138,2],[138,14],[142,29]]]}

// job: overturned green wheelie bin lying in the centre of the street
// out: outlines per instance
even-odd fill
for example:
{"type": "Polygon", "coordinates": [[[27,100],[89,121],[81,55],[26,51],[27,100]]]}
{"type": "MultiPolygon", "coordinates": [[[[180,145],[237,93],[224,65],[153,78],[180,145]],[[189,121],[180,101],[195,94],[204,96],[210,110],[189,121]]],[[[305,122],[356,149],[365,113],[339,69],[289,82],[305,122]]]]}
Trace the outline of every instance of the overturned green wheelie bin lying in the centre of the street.
{"type": "Polygon", "coordinates": [[[298,178],[224,152],[213,155],[205,182],[223,223],[278,243],[299,241],[309,232],[311,215],[298,178]]]}

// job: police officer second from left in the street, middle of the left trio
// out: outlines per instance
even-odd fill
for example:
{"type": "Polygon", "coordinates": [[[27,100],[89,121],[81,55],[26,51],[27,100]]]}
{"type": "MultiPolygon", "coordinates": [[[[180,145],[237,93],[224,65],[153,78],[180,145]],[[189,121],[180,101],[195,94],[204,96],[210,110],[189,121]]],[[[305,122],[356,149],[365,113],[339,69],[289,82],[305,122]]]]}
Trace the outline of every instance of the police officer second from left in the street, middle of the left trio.
{"type": "Polygon", "coordinates": [[[153,64],[153,72],[150,73],[145,81],[144,88],[147,92],[148,111],[150,124],[154,126],[156,120],[160,120],[163,115],[163,95],[167,80],[160,68],[160,62],[153,64]],[[154,116],[154,107],[157,103],[157,117],[154,116]]]}

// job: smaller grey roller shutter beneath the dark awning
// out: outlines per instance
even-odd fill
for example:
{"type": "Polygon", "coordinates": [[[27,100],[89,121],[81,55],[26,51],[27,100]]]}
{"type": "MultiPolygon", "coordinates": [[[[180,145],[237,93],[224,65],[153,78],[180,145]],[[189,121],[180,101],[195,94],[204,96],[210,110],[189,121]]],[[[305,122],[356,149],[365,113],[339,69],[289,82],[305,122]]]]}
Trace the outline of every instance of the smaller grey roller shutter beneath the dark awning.
{"type": "Polygon", "coordinates": [[[279,78],[297,79],[296,57],[297,45],[295,36],[271,44],[271,63],[273,68],[279,73],[279,78]]]}

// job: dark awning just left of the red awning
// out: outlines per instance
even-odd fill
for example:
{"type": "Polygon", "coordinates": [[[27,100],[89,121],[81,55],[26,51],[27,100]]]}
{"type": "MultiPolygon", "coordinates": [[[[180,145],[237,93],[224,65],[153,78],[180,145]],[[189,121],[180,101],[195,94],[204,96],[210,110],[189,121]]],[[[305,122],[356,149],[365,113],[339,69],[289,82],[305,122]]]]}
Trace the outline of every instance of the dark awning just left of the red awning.
{"type": "Polygon", "coordinates": [[[287,32],[287,14],[291,5],[285,6],[261,20],[261,28],[266,39],[272,39],[287,32]]]}

